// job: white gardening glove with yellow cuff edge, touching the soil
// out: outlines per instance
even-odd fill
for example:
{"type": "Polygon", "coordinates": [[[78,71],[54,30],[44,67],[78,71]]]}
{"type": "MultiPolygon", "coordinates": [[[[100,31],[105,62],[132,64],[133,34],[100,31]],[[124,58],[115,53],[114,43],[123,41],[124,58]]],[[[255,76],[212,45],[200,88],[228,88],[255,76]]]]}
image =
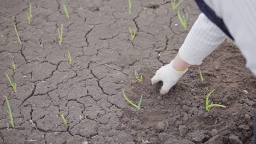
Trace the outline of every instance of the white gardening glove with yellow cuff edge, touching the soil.
{"type": "Polygon", "coordinates": [[[162,81],[163,85],[161,87],[160,94],[167,94],[177,83],[179,78],[188,70],[185,69],[184,71],[177,71],[172,67],[172,62],[162,66],[159,70],[156,70],[155,76],[151,79],[152,85],[162,81]]]}

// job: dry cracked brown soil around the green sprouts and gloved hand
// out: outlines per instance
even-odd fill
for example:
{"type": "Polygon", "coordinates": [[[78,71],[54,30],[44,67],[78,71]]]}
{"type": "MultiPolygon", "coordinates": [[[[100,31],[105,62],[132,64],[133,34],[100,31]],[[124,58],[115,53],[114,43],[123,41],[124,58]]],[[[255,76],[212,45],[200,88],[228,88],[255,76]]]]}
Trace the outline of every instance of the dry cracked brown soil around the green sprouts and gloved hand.
{"type": "Polygon", "coordinates": [[[205,83],[193,66],[165,96],[159,95],[159,86],[150,85],[155,70],[177,54],[200,14],[194,1],[178,8],[188,13],[188,31],[170,1],[134,0],[131,15],[127,1],[65,1],[70,20],[62,2],[1,0],[0,143],[252,143],[256,79],[230,41],[201,65],[205,83]],[[29,3],[31,25],[26,20],[29,3]],[[60,46],[57,28],[62,23],[60,46]],[[129,26],[137,31],[133,41],[129,26]],[[133,70],[143,75],[142,83],[133,70]],[[18,93],[4,73],[17,83],[18,93]],[[127,103],[122,88],[133,101],[143,94],[141,110],[127,103]],[[207,113],[206,94],[214,88],[211,100],[227,108],[207,113]]]}

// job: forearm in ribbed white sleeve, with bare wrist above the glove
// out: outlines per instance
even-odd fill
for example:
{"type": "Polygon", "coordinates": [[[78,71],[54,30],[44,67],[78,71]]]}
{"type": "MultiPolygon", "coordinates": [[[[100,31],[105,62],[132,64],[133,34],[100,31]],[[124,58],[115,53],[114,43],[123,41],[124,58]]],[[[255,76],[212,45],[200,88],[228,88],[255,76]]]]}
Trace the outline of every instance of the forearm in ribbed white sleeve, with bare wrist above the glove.
{"type": "Polygon", "coordinates": [[[190,65],[201,64],[202,60],[224,40],[225,34],[204,14],[200,14],[179,49],[179,54],[174,59],[173,68],[184,70],[190,65]]]}

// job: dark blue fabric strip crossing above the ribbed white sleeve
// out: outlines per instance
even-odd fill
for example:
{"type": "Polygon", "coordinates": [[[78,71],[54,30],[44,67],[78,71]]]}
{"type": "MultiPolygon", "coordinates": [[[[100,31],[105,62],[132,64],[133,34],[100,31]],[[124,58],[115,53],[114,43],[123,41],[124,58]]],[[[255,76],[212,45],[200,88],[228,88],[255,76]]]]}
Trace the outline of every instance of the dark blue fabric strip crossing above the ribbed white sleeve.
{"type": "Polygon", "coordinates": [[[222,31],[228,35],[229,38],[231,38],[232,40],[234,40],[234,38],[232,37],[232,35],[229,33],[228,28],[226,28],[225,23],[223,22],[223,20],[221,18],[219,18],[214,11],[208,7],[208,5],[206,5],[206,3],[203,0],[195,0],[198,7],[200,8],[200,10],[202,11],[203,14],[205,14],[208,19],[210,19],[213,23],[215,23],[215,25],[217,25],[220,29],[222,29],[222,31]]]}

